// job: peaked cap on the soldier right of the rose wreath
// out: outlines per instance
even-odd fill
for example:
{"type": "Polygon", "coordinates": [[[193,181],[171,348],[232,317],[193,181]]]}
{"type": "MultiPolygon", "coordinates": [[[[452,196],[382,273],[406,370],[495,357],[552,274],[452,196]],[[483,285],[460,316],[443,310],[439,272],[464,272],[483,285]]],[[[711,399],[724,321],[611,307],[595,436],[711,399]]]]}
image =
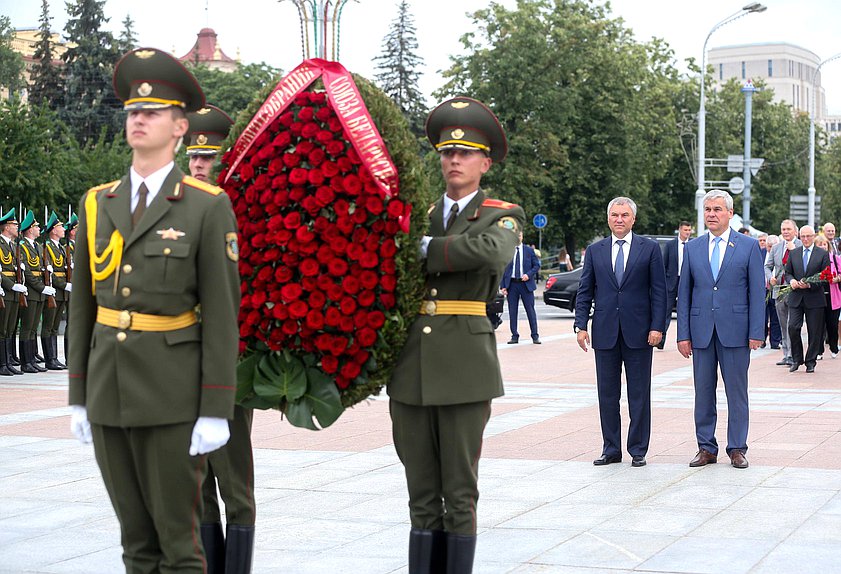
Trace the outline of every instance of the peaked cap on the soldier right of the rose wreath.
{"type": "Polygon", "coordinates": [[[478,149],[495,162],[508,153],[508,140],[494,113],[482,102],[464,96],[447,100],[429,113],[426,137],[438,151],[478,149]]]}

